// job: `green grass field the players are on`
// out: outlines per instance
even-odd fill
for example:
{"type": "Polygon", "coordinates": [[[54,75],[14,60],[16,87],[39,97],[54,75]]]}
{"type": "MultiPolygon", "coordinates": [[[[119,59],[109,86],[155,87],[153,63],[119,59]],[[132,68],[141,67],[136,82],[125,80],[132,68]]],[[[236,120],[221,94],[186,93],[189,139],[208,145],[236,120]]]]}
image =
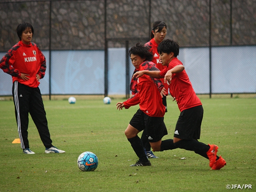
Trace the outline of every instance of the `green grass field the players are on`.
{"type": "MultiPolygon", "coordinates": [[[[0,192],[54,191],[227,191],[228,184],[251,184],[256,191],[256,99],[202,99],[204,119],[200,142],[217,144],[227,165],[210,170],[207,159],[191,151],[155,152],[152,166],[130,167],[138,160],[124,135],[138,109],[116,110],[116,102],[102,100],[44,101],[53,145],[65,154],[44,154],[44,146],[30,118],[28,138],[36,154],[22,154],[12,101],[0,101],[0,192]],[[78,169],[85,151],[98,156],[94,172],[78,169]],[[181,158],[185,157],[185,160],[181,158]]],[[[169,98],[165,123],[172,138],[179,116],[169,98]]],[[[231,189],[230,189],[231,190],[231,189]]],[[[237,190],[235,190],[237,191],[237,190]]]]}

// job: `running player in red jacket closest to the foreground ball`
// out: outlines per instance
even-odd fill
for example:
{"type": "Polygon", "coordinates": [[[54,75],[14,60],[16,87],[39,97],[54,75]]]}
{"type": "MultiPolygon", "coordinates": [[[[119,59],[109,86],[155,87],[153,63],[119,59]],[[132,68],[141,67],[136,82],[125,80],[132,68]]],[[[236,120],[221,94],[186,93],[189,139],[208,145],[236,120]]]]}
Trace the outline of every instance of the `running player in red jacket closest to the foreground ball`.
{"type": "MultiPolygon", "coordinates": [[[[138,70],[159,71],[152,60],[152,52],[143,44],[137,43],[129,50],[129,56],[132,64],[138,70]]],[[[146,130],[148,142],[152,149],[160,148],[161,139],[167,134],[167,129],[164,124],[165,106],[162,103],[160,92],[164,89],[160,79],[143,76],[137,79],[138,91],[136,94],[125,102],[118,102],[116,109],[130,108],[139,104],[140,109],[134,114],[128,127],[125,130],[125,135],[130,142],[134,152],[139,160],[131,166],[150,166],[143,148],[142,140],[138,137],[138,133],[146,130]]]]}

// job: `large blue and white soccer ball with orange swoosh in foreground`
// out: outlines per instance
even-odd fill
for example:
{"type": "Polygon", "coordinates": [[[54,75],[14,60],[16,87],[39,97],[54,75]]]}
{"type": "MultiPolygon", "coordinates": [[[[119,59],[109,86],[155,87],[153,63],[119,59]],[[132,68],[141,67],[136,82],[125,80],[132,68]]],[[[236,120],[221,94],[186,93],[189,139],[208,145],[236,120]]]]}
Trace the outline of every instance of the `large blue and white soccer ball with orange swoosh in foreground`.
{"type": "Polygon", "coordinates": [[[94,171],[98,167],[98,157],[92,152],[83,152],[77,159],[77,165],[82,171],[94,171]]]}

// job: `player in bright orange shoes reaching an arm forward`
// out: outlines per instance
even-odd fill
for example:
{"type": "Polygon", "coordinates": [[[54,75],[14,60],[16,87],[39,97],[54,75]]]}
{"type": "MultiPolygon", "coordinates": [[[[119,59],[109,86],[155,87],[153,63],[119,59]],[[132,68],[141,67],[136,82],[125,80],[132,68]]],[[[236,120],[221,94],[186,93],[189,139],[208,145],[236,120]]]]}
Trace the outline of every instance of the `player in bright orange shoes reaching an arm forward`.
{"type": "MultiPolygon", "coordinates": [[[[184,66],[177,56],[179,54],[179,45],[173,40],[164,40],[158,46],[160,60],[164,66],[164,70],[160,71],[139,71],[134,74],[137,78],[146,75],[154,78],[164,78],[169,84],[170,94],[176,98],[180,116],[178,118],[174,131],[174,138],[162,141],[161,151],[181,148],[194,151],[196,154],[209,159],[209,166],[213,170],[221,169],[226,165],[226,161],[217,156],[218,146],[204,144],[199,142],[201,123],[204,110],[202,103],[188,78],[184,66]]],[[[162,90],[165,94],[165,90],[162,90]]]]}

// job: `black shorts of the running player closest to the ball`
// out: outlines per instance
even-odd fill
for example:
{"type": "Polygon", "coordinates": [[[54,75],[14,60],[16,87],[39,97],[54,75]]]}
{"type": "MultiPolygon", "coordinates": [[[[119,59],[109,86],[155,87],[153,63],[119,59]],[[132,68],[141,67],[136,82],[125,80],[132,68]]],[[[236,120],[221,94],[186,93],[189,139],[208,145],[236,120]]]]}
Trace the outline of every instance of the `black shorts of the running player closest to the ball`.
{"type": "Polygon", "coordinates": [[[139,131],[146,130],[149,142],[157,142],[168,134],[164,117],[150,117],[140,109],[130,120],[130,125],[139,131]]]}

